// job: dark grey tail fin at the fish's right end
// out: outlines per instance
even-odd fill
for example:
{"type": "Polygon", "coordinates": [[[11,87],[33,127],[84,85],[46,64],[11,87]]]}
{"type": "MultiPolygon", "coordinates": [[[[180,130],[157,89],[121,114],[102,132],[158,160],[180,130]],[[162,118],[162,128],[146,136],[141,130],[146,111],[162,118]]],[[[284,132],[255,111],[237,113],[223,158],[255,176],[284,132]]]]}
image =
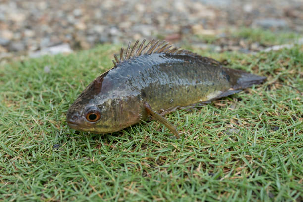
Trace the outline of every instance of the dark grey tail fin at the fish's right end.
{"type": "Polygon", "coordinates": [[[229,75],[235,90],[245,89],[254,84],[261,84],[266,80],[265,76],[258,76],[238,69],[224,68],[224,71],[229,75]]]}

